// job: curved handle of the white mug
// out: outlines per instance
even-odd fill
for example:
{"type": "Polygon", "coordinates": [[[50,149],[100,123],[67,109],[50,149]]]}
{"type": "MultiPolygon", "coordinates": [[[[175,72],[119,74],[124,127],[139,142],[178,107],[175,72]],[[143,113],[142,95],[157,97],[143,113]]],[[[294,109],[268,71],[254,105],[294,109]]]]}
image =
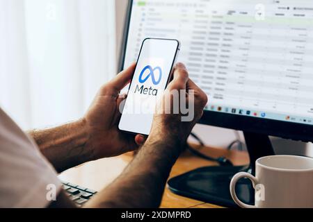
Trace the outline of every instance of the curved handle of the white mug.
{"type": "Polygon", "coordinates": [[[232,199],[234,200],[234,202],[239,205],[239,207],[243,207],[243,208],[256,208],[255,205],[248,205],[246,203],[241,202],[241,200],[239,200],[239,198],[236,196],[236,183],[238,182],[239,179],[241,178],[248,178],[249,180],[251,180],[253,188],[255,188],[255,185],[258,184],[257,182],[257,178],[255,178],[254,176],[252,176],[250,173],[246,173],[246,172],[239,172],[236,173],[235,176],[232,178],[232,181],[230,181],[230,194],[232,195],[232,199]]]}

